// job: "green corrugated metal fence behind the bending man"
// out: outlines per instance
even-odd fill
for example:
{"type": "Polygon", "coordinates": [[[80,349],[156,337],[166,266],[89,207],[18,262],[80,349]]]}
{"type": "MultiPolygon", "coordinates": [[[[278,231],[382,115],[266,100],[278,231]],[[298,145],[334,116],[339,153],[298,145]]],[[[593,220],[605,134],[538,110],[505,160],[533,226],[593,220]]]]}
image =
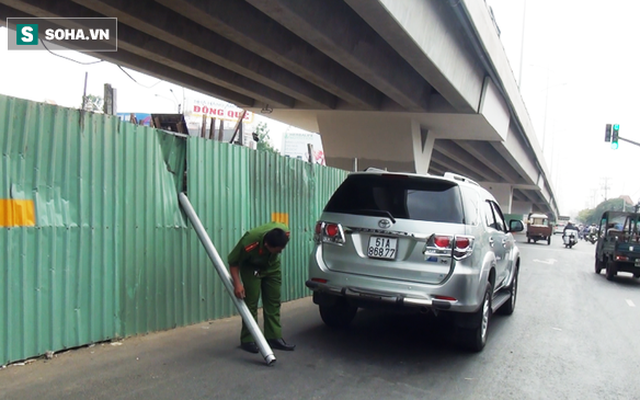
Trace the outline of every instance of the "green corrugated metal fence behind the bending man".
{"type": "Polygon", "coordinates": [[[0,151],[0,200],[32,200],[36,216],[0,226],[0,365],[235,312],[178,206],[185,168],[223,258],[245,230],[288,216],[283,300],[307,295],[313,224],[346,176],[6,96],[0,151]]]}

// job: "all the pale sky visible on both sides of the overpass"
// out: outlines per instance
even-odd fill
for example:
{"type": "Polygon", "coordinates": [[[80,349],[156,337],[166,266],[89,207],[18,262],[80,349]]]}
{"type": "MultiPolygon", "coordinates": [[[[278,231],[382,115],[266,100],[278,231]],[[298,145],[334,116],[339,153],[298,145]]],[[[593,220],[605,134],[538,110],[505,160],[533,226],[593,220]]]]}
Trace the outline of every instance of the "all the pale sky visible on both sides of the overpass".
{"type": "MultiPolygon", "coordinates": [[[[561,214],[575,216],[579,210],[595,207],[605,199],[605,188],[607,198],[628,195],[634,202],[640,200],[636,172],[640,147],[620,141],[620,148],[612,150],[604,142],[607,123],[620,124],[620,137],[640,142],[640,57],[636,55],[640,2],[486,3],[493,9],[543,147],[561,214]]],[[[9,52],[6,35],[7,30],[0,28],[2,94],[79,107],[88,72],[87,93],[101,96],[104,83],[110,83],[118,91],[118,112],[177,112],[183,98],[207,98],[125,68],[129,77],[107,62],[81,65],[42,51],[9,52]]],[[[85,63],[95,61],[76,52],[57,54],[85,63]]],[[[275,143],[284,131],[295,129],[260,115],[257,120],[268,122],[275,143]]]]}

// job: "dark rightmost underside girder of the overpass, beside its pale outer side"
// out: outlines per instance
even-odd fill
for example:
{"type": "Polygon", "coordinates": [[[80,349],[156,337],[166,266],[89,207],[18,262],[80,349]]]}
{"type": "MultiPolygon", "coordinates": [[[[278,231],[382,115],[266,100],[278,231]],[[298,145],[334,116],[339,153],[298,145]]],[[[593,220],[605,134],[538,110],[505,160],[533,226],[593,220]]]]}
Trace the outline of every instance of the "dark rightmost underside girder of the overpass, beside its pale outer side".
{"type": "Polygon", "coordinates": [[[247,0],[408,111],[429,108],[431,85],[342,0],[247,0]]]}

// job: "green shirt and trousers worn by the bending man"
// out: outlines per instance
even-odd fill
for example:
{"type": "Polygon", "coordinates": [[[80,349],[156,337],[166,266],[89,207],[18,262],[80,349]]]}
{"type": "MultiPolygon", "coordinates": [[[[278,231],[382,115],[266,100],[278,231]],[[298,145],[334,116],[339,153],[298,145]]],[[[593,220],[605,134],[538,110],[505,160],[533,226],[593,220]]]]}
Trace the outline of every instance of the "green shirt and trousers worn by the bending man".
{"type": "MultiPolygon", "coordinates": [[[[280,228],[289,235],[289,228],[279,222],[270,222],[250,230],[231,250],[227,257],[229,266],[240,267],[240,277],[244,285],[244,301],[251,315],[258,320],[258,300],[262,291],[262,313],[264,317],[265,339],[282,338],[280,326],[280,254],[272,254],[264,247],[264,235],[274,228],[280,228]]],[[[254,342],[251,332],[242,321],[240,342],[254,342]]]]}

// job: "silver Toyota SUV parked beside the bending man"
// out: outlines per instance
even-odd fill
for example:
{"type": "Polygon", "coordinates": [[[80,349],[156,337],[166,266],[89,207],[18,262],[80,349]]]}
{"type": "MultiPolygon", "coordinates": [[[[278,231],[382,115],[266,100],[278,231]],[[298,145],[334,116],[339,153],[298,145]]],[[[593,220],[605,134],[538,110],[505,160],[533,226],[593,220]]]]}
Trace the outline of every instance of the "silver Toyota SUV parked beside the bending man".
{"type": "Polygon", "coordinates": [[[495,198],[460,175],[356,172],[327,203],[309,259],[324,323],[346,327],[359,307],[448,315],[474,351],[494,311],[516,304],[520,253],[495,198]]]}

